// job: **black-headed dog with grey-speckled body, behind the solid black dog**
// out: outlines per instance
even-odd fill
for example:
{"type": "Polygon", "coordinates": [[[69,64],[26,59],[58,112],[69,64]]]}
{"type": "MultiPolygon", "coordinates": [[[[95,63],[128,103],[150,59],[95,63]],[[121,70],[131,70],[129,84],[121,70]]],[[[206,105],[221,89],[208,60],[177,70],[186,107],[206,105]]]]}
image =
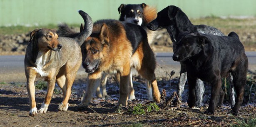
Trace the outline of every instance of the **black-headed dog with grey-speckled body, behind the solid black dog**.
{"type": "MultiPolygon", "coordinates": [[[[175,43],[179,34],[183,32],[199,32],[202,34],[211,34],[217,36],[224,36],[224,34],[218,29],[212,26],[206,25],[193,25],[186,14],[179,8],[173,5],[170,5],[160,12],[157,13],[157,18],[150,22],[147,27],[153,31],[158,29],[167,29],[173,42],[173,50],[176,50],[175,43]]],[[[230,77],[229,77],[230,78],[230,77]]],[[[178,96],[181,98],[184,91],[184,86],[187,79],[186,66],[181,62],[181,72],[179,77],[178,84],[178,96]]],[[[233,93],[231,97],[234,97],[234,88],[232,89],[233,93]]],[[[200,79],[196,83],[196,107],[201,107],[201,101],[203,100],[204,94],[204,84],[200,79]]]]}

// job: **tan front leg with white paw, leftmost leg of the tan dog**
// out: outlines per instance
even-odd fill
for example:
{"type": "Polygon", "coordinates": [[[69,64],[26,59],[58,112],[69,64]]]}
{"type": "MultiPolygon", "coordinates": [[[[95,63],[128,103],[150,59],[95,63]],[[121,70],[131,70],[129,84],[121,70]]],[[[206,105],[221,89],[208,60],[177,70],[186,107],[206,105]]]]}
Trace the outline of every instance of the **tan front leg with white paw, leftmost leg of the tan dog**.
{"type": "Polygon", "coordinates": [[[26,77],[27,77],[27,93],[30,104],[30,116],[37,115],[37,105],[35,103],[35,78],[37,72],[34,69],[26,68],[26,77]]]}

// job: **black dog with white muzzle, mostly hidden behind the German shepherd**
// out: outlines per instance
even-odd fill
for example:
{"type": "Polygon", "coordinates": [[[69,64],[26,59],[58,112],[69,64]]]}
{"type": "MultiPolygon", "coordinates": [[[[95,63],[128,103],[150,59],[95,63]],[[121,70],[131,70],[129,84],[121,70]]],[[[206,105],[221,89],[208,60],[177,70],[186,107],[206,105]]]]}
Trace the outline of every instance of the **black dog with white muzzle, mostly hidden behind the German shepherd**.
{"type": "MultiPolygon", "coordinates": [[[[125,22],[130,22],[137,24],[139,26],[142,26],[146,32],[147,32],[147,38],[149,44],[152,43],[155,37],[155,32],[156,31],[151,31],[147,28],[147,24],[154,20],[157,17],[157,9],[155,7],[150,7],[146,5],[145,3],[142,4],[121,4],[118,7],[118,12],[120,14],[119,21],[125,21],[125,22]]],[[[83,30],[83,26],[81,25],[80,31],[83,30]]],[[[70,29],[70,27],[67,26],[67,24],[60,24],[59,25],[59,30],[57,31],[59,36],[66,36],[66,37],[75,37],[79,33],[74,31],[73,29],[70,29]]],[[[109,74],[102,74],[102,81],[100,86],[102,87],[102,93],[100,91],[100,88],[97,87],[96,90],[96,96],[99,98],[110,98],[110,96],[107,94],[106,91],[106,82],[107,82],[107,77],[109,74]]],[[[129,99],[133,100],[135,99],[134,95],[134,89],[133,89],[133,84],[132,84],[132,73],[130,74],[130,93],[129,93],[129,99]]],[[[119,80],[119,77],[116,77],[117,80],[119,80]]],[[[147,82],[147,96],[149,100],[152,100],[152,88],[151,85],[147,82]]]]}

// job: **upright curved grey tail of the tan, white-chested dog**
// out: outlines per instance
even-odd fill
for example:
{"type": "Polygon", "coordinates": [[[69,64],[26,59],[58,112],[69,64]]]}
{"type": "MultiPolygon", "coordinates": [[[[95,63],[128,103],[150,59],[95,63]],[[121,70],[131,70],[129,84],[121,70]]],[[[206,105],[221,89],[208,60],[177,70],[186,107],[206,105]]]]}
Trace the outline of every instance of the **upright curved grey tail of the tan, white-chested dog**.
{"type": "Polygon", "coordinates": [[[75,37],[75,39],[78,41],[78,43],[81,46],[83,42],[88,38],[88,36],[92,34],[93,22],[92,22],[92,18],[89,17],[89,15],[84,11],[80,10],[78,12],[85,21],[84,30],[78,36],[75,37]]]}

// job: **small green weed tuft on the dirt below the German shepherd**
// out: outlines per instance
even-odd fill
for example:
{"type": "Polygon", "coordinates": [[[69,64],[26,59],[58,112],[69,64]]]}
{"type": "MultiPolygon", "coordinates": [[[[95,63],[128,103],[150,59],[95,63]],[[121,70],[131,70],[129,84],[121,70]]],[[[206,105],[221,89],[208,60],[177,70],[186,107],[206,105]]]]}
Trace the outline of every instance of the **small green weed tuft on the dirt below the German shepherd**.
{"type": "Polygon", "coordinates": [[[137,104],[136,106],[129,109],[134,115],[144,115],[146,113],[151,113],[153,111],[159,111],[159,107],[156,103],[150,103],[149,105],[137,104]]]}

